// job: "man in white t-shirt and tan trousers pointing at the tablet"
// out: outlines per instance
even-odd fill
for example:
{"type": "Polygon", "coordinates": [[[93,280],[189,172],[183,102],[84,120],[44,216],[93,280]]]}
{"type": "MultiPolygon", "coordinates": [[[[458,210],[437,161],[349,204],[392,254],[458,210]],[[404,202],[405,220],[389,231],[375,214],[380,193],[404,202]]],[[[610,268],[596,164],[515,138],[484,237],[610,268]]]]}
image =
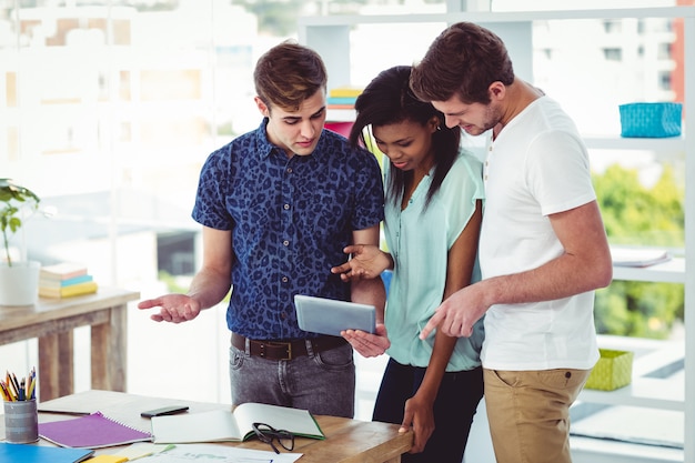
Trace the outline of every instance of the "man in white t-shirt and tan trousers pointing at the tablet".
{"type": "Polygon", "coordinates": [[[571,462],[570,406],[598,359],[594,290],[613,275],[586,148],[480,26],[444,30],[411,87],[446,125],[488,137],[483,280],[444,301],[421,338],[435,328],[467,336],[485,314],[481,360],[497,463],[571,462]]]}

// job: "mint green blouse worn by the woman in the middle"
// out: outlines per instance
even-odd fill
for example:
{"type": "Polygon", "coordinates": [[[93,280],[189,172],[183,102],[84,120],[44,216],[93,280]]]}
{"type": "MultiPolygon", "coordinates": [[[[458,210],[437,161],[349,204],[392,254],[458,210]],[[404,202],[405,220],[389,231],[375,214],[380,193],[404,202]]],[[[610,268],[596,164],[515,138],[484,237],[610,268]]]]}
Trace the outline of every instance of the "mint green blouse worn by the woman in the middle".
{"type": "MultiPolygon", "coordinates": [[[[386,191],[390,162],[384,162],[386,191]]],[[[484,198],[482,165],[473,155],[460,153],[440,190],[426,209],[430,175],[420,182],[407,207],[401,210],[401,198],[385,200],[384,233],[394,269],[386,301],[385,324],[391,340],[389,355],[396,362],[427,366],[434,334],[425,341],[419,334],[442,303],[446,282],[447,253],[484,198]]],[[[480,280],[477,261],[473,281],[480,280]]],[[[471,338],[460,338],[446,371],[471,370],[481,364],[483,321],[471,338]]]]}

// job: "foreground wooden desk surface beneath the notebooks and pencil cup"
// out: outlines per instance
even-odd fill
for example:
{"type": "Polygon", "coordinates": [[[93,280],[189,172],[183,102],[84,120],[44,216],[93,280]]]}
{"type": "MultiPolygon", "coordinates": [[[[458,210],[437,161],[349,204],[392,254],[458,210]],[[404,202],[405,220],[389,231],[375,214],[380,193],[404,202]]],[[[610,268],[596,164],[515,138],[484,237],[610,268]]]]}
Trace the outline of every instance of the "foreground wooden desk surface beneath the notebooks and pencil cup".
{"type": "MultiPolygon", "coordinates": [[[[143,431],[150,431],[150,421],[141,417],[140,412],[175,404],[189,405],[189,413],[231,407],[229,404],[149,397],[114,391],[92,390],[40,403],[39,410],[101,411],[107,416],[121,423],[143,431]]],[[[71,417],[74,416],[39,413],[39,422],[69,420],[71,417]]],[[[303,453],[303,456],[299,460],[301,463],[399,463],[401,455],[407,452],[412,445],[412,432],[401,434],[396,424],[364,422],[336,416],[315,416],[315,419],[326,439],[318,441],[296,437],[293,452],[303,453]]],[[[0,430],[2,431],[0,436],[3,437],[4,420],[1,419],[0,430]]],[[[38,444],[53,445],[42,439],[39,440],[38,444]]],[[[255,439],[248,442],[225,442],[215,445],[238,445],[244,449],[270,451],[268,444],[255,439]]],[[[113,449],[99,449],[95,454],[113,453],[113,449]]]]}

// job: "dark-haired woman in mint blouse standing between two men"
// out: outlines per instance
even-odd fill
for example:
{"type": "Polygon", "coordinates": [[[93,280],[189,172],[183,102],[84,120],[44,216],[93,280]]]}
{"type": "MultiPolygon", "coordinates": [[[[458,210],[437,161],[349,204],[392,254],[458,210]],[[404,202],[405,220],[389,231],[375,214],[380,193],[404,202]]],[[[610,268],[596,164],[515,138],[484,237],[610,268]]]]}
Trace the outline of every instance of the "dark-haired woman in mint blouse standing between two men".
{"type": "Polygon", "coordinates": [[[479,280],[482,165],[461,150],[461,130],[447,129],[442,113],[414,97],[410,72],[407,66],[387,69],[364,89],[350,133],[354,145],[375,144],[385,155],[389,252],[350,245],[353,258],[333,271],[351,280],[393,269],[385,332],[344,332],[365,356],[387,348],[373,420],[412,426],[405,462],[461,463],[483,395],[483,325],[470,338],[437,333],[422,341],[419,334],[444,299],[479,280]]]}

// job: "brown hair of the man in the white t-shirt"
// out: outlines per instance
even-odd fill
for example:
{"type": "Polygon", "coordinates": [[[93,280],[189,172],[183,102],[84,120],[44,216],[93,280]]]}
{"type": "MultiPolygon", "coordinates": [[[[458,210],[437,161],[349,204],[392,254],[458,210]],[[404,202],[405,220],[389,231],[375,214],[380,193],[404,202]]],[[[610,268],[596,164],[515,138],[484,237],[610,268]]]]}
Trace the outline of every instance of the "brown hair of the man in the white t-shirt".
{"type": "Polygon", "coordinates": [[[411,88],[424,101],[457,95],[466,104],[487,104],[496,81],[514,82],[512,60],[502,39],[472,22],[446,28],[411,72],[411,88]]]}

